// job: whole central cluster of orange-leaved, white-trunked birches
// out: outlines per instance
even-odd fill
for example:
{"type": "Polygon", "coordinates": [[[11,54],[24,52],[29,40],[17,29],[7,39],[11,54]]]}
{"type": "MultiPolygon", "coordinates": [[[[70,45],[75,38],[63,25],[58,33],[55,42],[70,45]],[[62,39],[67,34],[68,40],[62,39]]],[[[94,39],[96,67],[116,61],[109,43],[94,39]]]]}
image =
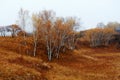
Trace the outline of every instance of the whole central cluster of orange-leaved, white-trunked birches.
{"type": "Polygon", "coordinates": [[[79,26],[77,19],[73,17],[59,18],[53,11],[42,11],[32,16],[34,26],[34,56],[37,50],[37,43],[44,43],[51,61],[52,57],[59,57],[66,49],[75,49],[75,29],[79,26]]]}

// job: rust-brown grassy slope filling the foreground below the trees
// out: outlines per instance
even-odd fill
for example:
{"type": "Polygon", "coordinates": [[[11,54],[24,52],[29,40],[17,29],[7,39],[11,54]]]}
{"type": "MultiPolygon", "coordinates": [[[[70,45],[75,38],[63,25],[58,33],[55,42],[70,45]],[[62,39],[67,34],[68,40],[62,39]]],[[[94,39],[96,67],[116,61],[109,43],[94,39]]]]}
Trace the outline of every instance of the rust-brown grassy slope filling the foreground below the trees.
{"type": "Polygon", "coordinates": [[[120,80],[119,50],[84,47],[47,62],[7,49],[12,45],[0,40],[1,80],[120,80]]]}

